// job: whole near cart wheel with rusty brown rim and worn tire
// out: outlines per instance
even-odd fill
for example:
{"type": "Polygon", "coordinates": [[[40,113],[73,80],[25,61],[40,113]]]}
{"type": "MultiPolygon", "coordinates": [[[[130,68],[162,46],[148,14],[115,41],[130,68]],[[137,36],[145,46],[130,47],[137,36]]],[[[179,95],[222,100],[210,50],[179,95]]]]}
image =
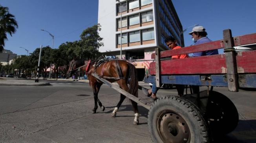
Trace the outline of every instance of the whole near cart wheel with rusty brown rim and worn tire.
{"type": "Polygon", "coordinates": [[[156,143],[207,143],[208,124],[192,102],[164,97],[154,102],[148,112],[148,130],[156,143]]]}

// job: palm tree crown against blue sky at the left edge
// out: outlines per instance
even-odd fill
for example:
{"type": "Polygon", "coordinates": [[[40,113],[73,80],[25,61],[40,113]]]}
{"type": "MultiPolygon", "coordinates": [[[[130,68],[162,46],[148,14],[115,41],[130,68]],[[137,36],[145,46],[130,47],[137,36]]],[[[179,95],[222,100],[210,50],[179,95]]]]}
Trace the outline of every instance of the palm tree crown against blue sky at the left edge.
{"type": "Polygon", "coordinates": [[[11,36],[18,28],[15,16],[9,13],[8,7],[0,5],[0,52],[4,49],[4,42],[7,40],[7,33],[11,36]]]}

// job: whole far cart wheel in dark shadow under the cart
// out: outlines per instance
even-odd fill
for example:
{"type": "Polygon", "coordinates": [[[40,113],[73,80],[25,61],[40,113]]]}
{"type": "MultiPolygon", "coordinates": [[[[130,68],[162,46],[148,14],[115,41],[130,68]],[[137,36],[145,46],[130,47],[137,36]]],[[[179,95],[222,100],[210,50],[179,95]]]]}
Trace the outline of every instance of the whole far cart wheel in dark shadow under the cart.
{"type": "Polygon", "coordinates": [[[239,120],[238,111],[233,102],[216,91],[210,91],[206,117],[215,136],[232,132],[239,120]]]}

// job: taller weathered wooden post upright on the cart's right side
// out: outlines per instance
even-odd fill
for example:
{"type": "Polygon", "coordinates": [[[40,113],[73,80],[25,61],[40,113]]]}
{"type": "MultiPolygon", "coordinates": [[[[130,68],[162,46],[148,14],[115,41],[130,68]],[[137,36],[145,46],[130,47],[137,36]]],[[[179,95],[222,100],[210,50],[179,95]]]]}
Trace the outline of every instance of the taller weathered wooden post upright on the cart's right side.
{"type": "Polygon", "coordinates": [[[224,52],[226,56],[227,81],[229,91],[238,92],[238,73],[236,65],[236,51],[234,49],[234,39],[230,29],[223,30],[224,52]]]}

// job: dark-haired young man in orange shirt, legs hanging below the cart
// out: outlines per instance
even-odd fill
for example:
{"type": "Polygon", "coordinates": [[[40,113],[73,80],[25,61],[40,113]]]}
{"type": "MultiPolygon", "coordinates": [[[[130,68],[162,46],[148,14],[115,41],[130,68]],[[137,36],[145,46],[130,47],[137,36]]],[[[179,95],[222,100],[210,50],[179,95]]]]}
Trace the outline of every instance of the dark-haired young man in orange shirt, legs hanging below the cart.
{"type": "MultiPolygon", "coordinates": [[[[168,46],[168,48],[170,48],[170,50],[174,50],[174,49],[179,49],[181,48],[180,46],[177,45],[177,41],[176,39],[174,39],[172,36],[169,36],[165,39],[165,43],[166,45],[168,46]]],[[[188,55],[187,54],[181,54],[181,55],[173,55],[172,56],[172,59],[184,59],[184,58],[187,58],[188,55]]],[[[151,95],[151,98],[153,98],[154,100],[157,99],[156,97],[156,93],[157,93],[157,90],[159,88],[156,87],[155,83],[152,84],[152,89],[143,89],[142,91],[144,92],[145,95],[147,96],[150,96],[151,95]]],[[[184,95],[184,85],[179,85],[179,84],[176,84],[176,89],[178,91],[178,95],[180,97],[182,97],[184,95]]]]}

